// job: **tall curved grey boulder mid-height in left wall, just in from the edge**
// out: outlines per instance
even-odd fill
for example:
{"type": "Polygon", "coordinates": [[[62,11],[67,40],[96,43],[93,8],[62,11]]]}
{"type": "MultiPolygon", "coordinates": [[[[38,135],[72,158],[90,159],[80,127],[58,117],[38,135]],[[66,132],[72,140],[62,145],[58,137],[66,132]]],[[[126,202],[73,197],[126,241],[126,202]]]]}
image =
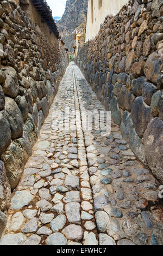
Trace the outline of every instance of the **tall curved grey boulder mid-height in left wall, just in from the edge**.
{"type": "Polygon", "coordinates": [[[5,110],[10,124],[12,139],[21,137],[23,134],[23,117],[14,99],[5,97],[5,110]]]}

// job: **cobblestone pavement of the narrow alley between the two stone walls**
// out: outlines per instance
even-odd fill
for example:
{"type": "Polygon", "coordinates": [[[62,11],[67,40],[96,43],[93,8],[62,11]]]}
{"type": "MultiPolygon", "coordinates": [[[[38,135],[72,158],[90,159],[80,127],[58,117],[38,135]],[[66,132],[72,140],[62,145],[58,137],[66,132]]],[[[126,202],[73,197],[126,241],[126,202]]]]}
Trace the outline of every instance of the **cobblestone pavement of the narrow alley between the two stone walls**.
{"type": "Polygon", "coordinates": [[[83,108],[104,110],[71,63],[13,193],[0,245],[163,244],[159,183],[116,124],[110,135],[83,129],[83,108]],[[65,103],[70,130],[58,128],[62,117],[69,123],[65,103]]]}

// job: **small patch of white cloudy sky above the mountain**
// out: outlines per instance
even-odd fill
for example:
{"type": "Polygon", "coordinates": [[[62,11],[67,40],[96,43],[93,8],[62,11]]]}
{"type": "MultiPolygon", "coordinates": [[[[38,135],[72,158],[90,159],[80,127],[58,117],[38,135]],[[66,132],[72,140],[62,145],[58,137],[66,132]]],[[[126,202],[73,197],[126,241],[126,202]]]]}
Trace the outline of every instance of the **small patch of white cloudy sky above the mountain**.
{"type": "Polygon", "coordinates": [[[46,0],[53,11],[53,17],[61,17],[64,14],[66,1],[67,0],[46,0]]]}

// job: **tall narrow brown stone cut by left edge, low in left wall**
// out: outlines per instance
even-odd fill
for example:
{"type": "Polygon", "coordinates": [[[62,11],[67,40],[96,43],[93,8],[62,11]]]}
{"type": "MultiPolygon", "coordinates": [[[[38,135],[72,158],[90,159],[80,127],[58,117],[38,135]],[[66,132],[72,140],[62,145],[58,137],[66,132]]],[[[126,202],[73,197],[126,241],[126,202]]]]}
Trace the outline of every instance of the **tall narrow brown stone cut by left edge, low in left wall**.
{"type": "Polygon", "coordinates": [[[5,210],[8,210],[10,206],[10,197],[11,197],[10,183],[5,172],[4,163],[0,160],[0,210],[1,211],[4,212],[5,210]]]}

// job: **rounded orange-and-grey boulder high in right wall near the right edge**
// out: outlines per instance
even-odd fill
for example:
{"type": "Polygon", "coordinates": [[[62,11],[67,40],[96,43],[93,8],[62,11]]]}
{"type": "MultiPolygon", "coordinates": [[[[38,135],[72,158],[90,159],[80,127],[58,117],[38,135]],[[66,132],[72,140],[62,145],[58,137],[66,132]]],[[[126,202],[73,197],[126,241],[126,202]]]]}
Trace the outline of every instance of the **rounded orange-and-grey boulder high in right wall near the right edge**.
{"type": "Polygon", "coordinates": [[[159,54],[157,52],[153,52],[149,55],[145,64],[144,73],[146,78],[156,84],[161,69],[162,63],[159,54]]]}

